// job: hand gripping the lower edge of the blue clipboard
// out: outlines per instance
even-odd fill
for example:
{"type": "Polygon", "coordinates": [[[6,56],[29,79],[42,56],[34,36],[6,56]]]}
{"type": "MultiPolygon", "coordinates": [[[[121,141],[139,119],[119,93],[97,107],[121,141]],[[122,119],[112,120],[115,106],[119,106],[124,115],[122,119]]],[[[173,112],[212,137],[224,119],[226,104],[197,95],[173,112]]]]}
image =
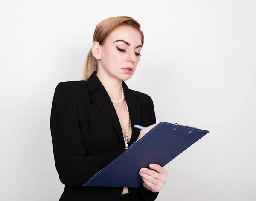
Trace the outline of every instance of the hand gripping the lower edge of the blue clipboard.
{"type": "Polygon", "coordinates": [[[159,192],[167,182],[168,172],[157,164],[150,164],[149,168],[141,168],[140,176],[144,183],[143,186],[152,192],[159,192]]]}

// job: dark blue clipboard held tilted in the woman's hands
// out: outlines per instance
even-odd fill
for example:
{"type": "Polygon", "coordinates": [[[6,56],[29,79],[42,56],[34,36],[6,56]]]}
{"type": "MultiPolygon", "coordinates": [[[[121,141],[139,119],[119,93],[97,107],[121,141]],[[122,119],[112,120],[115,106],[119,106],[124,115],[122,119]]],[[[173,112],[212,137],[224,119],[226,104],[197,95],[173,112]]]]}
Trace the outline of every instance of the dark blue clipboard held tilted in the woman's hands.
{"type": "Polygon", "coordinates": [[[134,187],[143,183],[139,171],[149,164],[165,166],[209,131],[160,122],[83,186],[134,187]]]}

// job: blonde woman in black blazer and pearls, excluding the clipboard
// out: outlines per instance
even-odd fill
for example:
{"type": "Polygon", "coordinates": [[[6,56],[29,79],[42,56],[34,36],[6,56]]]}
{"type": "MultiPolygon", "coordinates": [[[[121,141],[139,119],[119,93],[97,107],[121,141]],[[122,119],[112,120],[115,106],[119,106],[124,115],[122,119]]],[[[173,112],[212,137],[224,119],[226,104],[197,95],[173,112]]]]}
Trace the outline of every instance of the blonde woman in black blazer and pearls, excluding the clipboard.
{"type": "Polygon", "coordinates": [[[138,188],[83,187],[156,124],[150,96],[131,90],[144,37],[127,16],[100,22],[81,81],[60,82],[50,116],[55,166],[65,184],[60,201],[154,201],[167,179],[157,164],[142,168],[138,188]],[[143,130],[134,125],[146,127],[143,130]]]}

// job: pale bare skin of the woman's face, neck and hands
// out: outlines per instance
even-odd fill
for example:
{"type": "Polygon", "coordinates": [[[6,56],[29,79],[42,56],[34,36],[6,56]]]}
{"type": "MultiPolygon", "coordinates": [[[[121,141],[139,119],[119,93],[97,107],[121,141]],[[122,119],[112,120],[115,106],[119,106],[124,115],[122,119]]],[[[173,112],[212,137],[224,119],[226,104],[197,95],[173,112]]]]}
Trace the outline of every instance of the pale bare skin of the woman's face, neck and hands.
{"type": "MultiPolygon", "coordinates": [[[[99,45],[97,41],[93,42],[91,50],[93,56],[98,60],[97,76],[111,99],[121,99],[122,80],[130,79],[135,73],[140,61],[140,55],[138,54],[142,49],[141,45],[140,32],[129,26],[116,28],[108,35],[103,45],[99,45]],[[125,42],[116,42],[117,40],[124,40],[125,42]],[[117,47],[124,51],[119,51],[117,47]],[[125,73],[121,69],[125,67],[132,67],[133,72],[131,74],[125,73]]],[[[114,106],[116,110],[123,111],[126,115],[125,102],[114,104],[114,106]]],[[[155,125],[150,125],[141,130],[138,139],[155,125]]],[[[143,186],[152,192],[159,192],[166,183],[168,176],[168,172],[158,164],[150,164],[149,168],[141,168],[139,174],[143,179],[143,186]]],[[[125,193],[128,193],[127,187],[123,189],[123,194],[125,193]]]]}

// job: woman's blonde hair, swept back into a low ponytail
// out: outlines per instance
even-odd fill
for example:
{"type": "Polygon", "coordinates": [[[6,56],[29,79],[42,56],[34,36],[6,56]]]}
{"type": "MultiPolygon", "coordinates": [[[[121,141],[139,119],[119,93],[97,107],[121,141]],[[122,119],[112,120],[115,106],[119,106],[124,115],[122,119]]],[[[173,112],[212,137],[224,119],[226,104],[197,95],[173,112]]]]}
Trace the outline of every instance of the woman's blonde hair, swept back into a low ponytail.
{"type": "MultiPolygon", "coordinates": [[[[144,34],[143,31],[140,30],[140,24],[136,20],[128,16],[110,17],[99,22],[99,24],[96,26],[94,30],[93,42],[97,41],[100,45],[103,45],[108,35],[117,27],[122,25],[131,26],[132,28],[137,29],[140,32],[141,43],[143,45],[144,34]]],[[[97,59],[93,56],[93,53],[90,49],[85,60],[82,80],[87,80],[93,74],[94,71],[97,71],[97,69],[97,59]]]]}

